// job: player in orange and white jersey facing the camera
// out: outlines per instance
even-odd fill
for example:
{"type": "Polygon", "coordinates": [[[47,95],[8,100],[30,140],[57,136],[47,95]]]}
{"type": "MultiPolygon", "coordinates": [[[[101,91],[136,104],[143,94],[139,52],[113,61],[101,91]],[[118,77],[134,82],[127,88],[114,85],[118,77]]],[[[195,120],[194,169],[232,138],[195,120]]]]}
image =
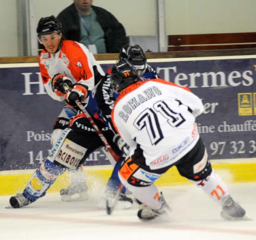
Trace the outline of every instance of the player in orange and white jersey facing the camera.
{"type": "MultiPolygon", "coordinates": [[[[39,68],[48,95],[58,101],[66,98],[69,102],[77,98],[86,103],[87,95],[104,76],[104,71],[93,54],[83,44],[64,40],[61,24],[54,16],[41,18],[37,34],[39,42],[45,47],[39,56],[39,68]],[[71,94],[66,96],[62,87],[65,82],[70,87],[74,84],[71,94]]],[[[76,108],[70,105],[64,106],[54,123],[52,146],[69,126],[70,118],[76,114],[76,108]]],[[[62,200],[74,200],[72,197],[74,193],[78,193],[76,200],[88,198],[82,165],[78,170],[70,170],[69,175],[71,184],[60,191],[62,200]]]]}

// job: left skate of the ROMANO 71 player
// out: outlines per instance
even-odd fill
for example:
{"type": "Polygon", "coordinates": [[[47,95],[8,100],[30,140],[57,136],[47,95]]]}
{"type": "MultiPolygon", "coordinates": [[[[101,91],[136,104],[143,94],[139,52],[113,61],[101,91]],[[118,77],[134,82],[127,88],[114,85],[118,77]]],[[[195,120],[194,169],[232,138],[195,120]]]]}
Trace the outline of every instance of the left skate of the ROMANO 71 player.
{"type": "Polygon", "coordinates": [[[162,203],[162,206],[160,209],[152,209],[148,206],[141,204],[140,210],[138,211],[138,218],[142,221],[152,220],[160,215],[166,214],[168,211],[170,212],[171,208],[168,206],[166,201],[164,200],[164,196],[161,192],[161,196],[159,198],[159,201],[162,203]]]}

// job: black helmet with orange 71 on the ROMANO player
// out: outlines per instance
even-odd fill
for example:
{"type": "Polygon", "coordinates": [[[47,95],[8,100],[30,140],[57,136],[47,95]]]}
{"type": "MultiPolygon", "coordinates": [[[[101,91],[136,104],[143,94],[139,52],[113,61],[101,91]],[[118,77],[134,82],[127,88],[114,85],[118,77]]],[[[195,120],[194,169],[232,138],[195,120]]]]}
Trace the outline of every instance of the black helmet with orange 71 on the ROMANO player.
{"type": "Polygon", "coordinates": [[[118,62],[111,70],[110,82],[116,92],[121,92],[139,80],[137,70],[129,62],[118,62]]]}

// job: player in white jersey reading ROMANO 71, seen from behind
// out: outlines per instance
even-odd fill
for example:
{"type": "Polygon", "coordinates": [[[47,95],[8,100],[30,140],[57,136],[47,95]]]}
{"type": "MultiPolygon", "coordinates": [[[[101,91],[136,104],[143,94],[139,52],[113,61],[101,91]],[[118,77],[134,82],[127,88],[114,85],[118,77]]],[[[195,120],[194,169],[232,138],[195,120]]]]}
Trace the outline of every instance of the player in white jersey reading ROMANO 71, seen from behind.
{"type": "Polygon", "coordinates": [[[143,203],[140,220],[152,220],[170,209],[154,181],[170,167],[202,188],[222,206],[225,219],[242,219],[245,210],[231,198],[228,187],[214,172],[195,119],[201,100],[188,88],[162,79],[141,81],[135,68],[120,62],[110,81],[120,92],[112,122],[130,146],[130,157],[119,169],[121,182],[143,203]]]}

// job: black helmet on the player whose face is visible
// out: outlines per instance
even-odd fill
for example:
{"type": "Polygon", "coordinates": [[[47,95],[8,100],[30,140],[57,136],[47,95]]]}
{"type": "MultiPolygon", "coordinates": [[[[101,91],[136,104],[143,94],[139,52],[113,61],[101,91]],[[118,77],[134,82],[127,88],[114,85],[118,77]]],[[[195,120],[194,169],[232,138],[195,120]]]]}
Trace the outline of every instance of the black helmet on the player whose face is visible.
{"type": "Polygon", "coordinates": [[[37,35],[50,34],[52,32],[62,33],[60,21],[53,15],[50,17],[41,18],[36,28],[37,35]]]}

